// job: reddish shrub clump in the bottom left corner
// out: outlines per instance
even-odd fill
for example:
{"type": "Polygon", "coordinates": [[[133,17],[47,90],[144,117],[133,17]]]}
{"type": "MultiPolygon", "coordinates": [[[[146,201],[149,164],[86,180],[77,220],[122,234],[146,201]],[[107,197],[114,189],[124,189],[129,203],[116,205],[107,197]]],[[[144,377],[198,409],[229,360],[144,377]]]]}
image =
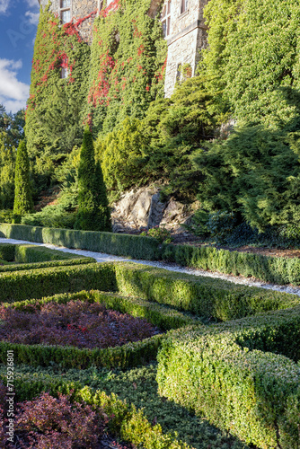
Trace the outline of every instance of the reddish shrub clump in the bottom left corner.
{"type": "MultiPolygon", "coordinates": [[[[0,390],[4,387],[0,384],[0,390]]],[[[98,449],[112,418],[103,409],[85,403],[72,403],[71,395],[58,393],[54,398],[43,392],[33,401],[17,404],[14,418],[14,436],[17,445],[5,435],[7,426],[4,409],[0,409],[2,427],[1,447],[7,449],[98,449]]],[[[4,402],[0,404],[4,406],[4,402]]],[[[105,436],[106,437],[106,436],[105,436]]],[[[126,446],[116,445],[119,449],[126,446]]]]}

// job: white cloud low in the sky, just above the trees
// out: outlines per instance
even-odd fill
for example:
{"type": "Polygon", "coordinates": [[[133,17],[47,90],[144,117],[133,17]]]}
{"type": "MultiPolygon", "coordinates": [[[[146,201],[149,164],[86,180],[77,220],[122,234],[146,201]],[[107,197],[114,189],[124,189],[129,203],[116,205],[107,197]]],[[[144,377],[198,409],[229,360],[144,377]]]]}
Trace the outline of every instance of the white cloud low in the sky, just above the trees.
{"type": "Polygon", "coordinates": [[[29,85],[17,79],[17,70],[21,67],[21,60],[0,58],[0,103],[8,112],[24,108],[29,97],[29,85]]]}

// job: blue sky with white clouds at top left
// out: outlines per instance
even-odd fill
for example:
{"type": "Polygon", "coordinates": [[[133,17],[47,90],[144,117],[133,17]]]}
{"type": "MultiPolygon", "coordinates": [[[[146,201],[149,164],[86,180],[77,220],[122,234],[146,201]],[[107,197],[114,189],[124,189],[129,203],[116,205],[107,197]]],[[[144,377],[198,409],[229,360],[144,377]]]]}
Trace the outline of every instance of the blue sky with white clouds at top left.
{"type": "Polygon", "coordinates": [[[26,105],[39,20],[38,0],[0,0],[0,104],[7,112],[26,105]]]}

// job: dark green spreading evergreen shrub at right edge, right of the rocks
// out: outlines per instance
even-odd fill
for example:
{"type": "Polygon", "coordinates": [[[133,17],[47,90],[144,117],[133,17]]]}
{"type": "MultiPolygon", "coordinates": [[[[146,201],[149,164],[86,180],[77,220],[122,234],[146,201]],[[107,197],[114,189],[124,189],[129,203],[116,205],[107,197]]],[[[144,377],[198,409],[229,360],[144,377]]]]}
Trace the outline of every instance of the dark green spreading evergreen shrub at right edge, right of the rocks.
{"type": "MultiPolygon", "coordinates": [[[[299,104],[299,94],[296,100],[292,93],[299,104]]],[[[296,225],[300,213],[299,128],[300,113],[285,128],[243,125],[227,140],[194,154],[195,166],[204,176],[199,184],[202,207],[210,212],[234,212],[240,221],[260,231],[267,225],[296,225]]]]}

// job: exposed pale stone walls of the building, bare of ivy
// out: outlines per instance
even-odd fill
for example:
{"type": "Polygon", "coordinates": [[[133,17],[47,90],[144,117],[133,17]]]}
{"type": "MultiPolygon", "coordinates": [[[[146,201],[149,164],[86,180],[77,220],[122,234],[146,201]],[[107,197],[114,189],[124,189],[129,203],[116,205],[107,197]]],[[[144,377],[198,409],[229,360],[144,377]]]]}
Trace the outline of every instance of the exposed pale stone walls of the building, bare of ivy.
{"type": "MultiPolygon", "coordinates": [[[[138,1],[138,0],[137,0],[138,1]]],[[[203,8],[208,0],[172,0],[170,13],[170,31],[166,37],[168,58],[165,73],[164,92],[170,97],[177,81],[182,79],[181,66],[189,67],[189,76],[194,76],[199,63],[200,49],[207,46],[207,26],[203,20],[203,8]],[[185,12],[181,13],[184,2],[185,12]]],[[[49,0],[39,0],[45,7],[49,0]]],[[[100,6],[109,5],[112,0],[52,0],[51,10],[62,17],[69,10],[70,18],[78,20],[93,13],[80,28],[86,42],[91,42],[93,18],[100,6]]],[[[149,15],[154,17],[162,11],[164,0],[152,0],[149,15]]],[[[167,0],[164,2],[166,3],[167,0]]]]}

